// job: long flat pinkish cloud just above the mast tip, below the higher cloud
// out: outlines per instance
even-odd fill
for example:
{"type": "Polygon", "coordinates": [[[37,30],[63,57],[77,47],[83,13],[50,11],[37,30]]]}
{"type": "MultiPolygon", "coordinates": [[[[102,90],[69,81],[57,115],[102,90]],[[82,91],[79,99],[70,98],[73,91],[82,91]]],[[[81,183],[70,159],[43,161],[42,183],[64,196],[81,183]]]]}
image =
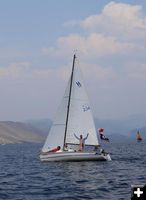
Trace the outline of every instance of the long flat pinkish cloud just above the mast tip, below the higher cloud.
{"type": "Polygon", "coordinates": [[[101,57],[106,55],[125,54],[137,50],[145,51],[139,45],[131,42],[121,42],[112,36],[105,36],[100,33],[91,33],[87,36],[72,34],[60,37],[57,40],[56,47],[43,48],[45,55],[53,57],[70,57],[73,50],[77,49],[80,54],[86,58],[101,57]]]}

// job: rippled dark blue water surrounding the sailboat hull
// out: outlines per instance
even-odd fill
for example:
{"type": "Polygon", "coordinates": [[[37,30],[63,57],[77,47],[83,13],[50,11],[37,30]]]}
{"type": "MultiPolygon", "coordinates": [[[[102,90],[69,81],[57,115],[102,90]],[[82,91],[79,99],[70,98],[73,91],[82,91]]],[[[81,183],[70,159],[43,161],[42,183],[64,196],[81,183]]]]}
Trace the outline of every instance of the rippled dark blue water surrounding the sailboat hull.
{"type": "Polygon", "coordinates": [[[0,200],[128,200],[146,184],[146,143],[107,143],[111,162],[39,160],[40,144],[0,146],[0,200]]]}

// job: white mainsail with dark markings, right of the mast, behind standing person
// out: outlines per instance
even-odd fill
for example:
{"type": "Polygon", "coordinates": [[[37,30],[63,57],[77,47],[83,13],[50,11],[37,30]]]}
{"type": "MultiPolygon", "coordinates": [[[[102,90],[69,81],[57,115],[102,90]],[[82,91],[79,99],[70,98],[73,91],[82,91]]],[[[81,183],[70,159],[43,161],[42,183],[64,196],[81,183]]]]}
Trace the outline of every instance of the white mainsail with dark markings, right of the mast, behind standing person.
{"type": "Polygon", "coordinates": [[[86,137],[87,133],[89,133],[89,136],[86,140],[86,144],[98,145],[99,143],[91,107],[85,90],[82,74],[76,62],[72,80],[66,143],[78,144],[79,142],[75,138],[74,134],[78,137],[81,134],[83,137],[86,137]]]}

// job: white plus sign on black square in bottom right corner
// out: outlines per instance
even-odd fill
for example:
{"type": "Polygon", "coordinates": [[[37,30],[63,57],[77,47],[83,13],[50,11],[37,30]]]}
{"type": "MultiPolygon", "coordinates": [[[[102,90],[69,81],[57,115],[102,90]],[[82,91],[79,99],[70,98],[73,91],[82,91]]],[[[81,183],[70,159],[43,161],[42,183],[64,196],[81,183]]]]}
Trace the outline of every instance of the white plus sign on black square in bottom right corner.
{"type": "Polygon", "coordinates": [[[146,200],[146,185],[132,185],[131,199],[146,200]]]}

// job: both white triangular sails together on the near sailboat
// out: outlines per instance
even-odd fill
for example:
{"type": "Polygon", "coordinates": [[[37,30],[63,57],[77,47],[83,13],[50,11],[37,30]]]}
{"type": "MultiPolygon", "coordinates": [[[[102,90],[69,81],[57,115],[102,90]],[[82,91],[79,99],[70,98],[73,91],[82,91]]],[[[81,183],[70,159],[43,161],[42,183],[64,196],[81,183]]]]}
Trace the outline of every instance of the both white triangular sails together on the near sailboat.
{"type": "Polygon", "coordinates": [[[74,134],[85,137],[87,133],[86,145],[98,145],[91,107],[74,55],[72,74],[42,151],[57,146],[64,148],[65,144],[78,144],[74,134]]]}

